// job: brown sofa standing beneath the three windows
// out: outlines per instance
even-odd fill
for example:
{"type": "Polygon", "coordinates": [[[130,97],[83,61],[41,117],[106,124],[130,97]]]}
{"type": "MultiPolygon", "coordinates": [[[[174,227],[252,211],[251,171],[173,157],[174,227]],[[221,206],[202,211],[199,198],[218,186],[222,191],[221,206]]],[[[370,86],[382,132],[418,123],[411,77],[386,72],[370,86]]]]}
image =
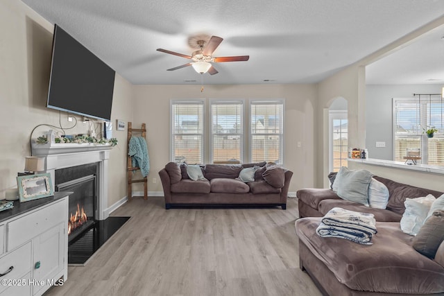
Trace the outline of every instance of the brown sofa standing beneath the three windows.
{"type": "Polygon", "coordinates": [[[159,171],[165,208],[200,205],[258,205],[287,208],[293,172],[266,164],[201,166],[205,180],[191,180],[185,164],[170,162],[159,171]],[[255,181],[237,180],[243,168],[258,166],[255,181]]]}

